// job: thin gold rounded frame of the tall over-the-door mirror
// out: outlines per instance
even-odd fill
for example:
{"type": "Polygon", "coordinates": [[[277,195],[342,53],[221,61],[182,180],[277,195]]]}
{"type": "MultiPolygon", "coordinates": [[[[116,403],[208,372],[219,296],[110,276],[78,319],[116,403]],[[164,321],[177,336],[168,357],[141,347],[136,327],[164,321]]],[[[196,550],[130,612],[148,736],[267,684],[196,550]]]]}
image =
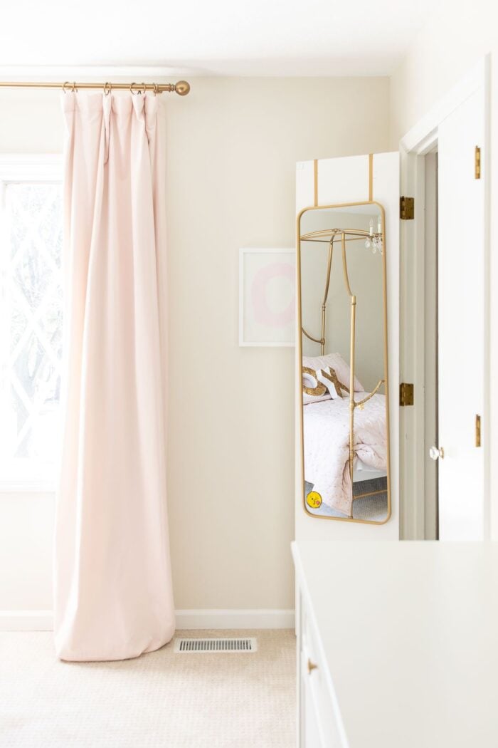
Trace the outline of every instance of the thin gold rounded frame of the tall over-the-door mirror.
{"type": "MultiPolygon", "coordinates": [[[[297,272],[297,289],[296,289],[296,295],[297,295],[297,320],[298,320],[298,334],[297,334],[297,350],[298,350],[298,364],[299,364],[299,370],[297,373],[297,381],[299,382],[299,445],[301,448],[301,479],[302,479],[302,506],[306,512],[306,514],[309,517],[313,517],[314,519],[326,519],[326,520],[333,520],[333,521],[339,521],[339,522],[356,522],[360,524],[373,524],[373,525],[382,525],[386,524],[390,520],[391,515],[391,500],[390,500],[390,423],[389,423],[389,373],[388,373],[388,358],[387,358],[387,272],[386,272],[386,256],[387,256],[387,238],[386,238],[386,231],[385,231],[385,209],[384,206],[382,206],[381,203],[378,203],[376,200],[364,200],[359,203],[336,203],[332,205],[315,205],[310,206],[308,208],[303,208],[299,214],[297,215],[296,219],[296,272],[297,272]],[[364,206],[364,205],[372,205],[376,206],[376,208],[379,209],[381,218],[382,218],[382,242],[383,242],[383,251],[382,251],[382,295],[383,295],[383,301],[384,301],[384,372],[385,372],[385,407],[386,407],[386,429],[387,429],[387,514],[385,519],[382,521],[376,521],[376,520],[367,520],[367,519],[355,519],[353,517],[328,517],[326,515],[320,516],[315,515],[312,512],[308,510],[308,506],[306,505],[306,495],[305,495],[305,447],[304,447],[304,402],[302,397],[302,303],[301,303],[301,219],[302,216],[305,215],[305,213],[308,212],[314,212],[317,210],[327,210],[327,209],[340,209],[340,208],[353,208],[355,206],[364,206]]],[[[350,367],[350,374],[351,374],[351,383],[355,381],[355,346],[354,346],[354,340],[355,340],[355,295],[352,294],[351,289],[349,288],[349,281],[347,281],[347,269],[344,267],[345,277],[346,277],[346,283],[349,289],[349,298],[351,299],[351,309],[352,309],[352,319],[351,319],[351,344],[349,349],[349,367],[350,367]]],[[[329,278],[327,278],[327,284],[326,288],[328,289],[328,283],[329,278]]],[[[308,335],[308,334],[307,334],[308,335]]],[[[308,337],[311,337],[308,335],[308,337]]],[[[311,338],[311,340],[315,340],[317,343],[322,343],[320,340],[316,340],[314,338],[311,338]]],[[[323,347],[323,346],[322,346],[323,347]]],[[[376,389],[378,389],[379,385],[377,385],[376,389]]],[[[373,393],[370,393],[370,396],[373,393]]],[[[351,386],[350,391],[350,399],[354,399],[354,387],[351,386]]],[[[351,420],[350,420],[350,444],[352,443],[352,429],[354,428],[353,425],[353,418],[354,418],[354,408],[357,407],[360,403],[356,402],[351,407],[351,420]]],[[[351,456],[349,457],[349,461],[351,461],[351,456]]],[[[350,465],[350,470],[352,470],[352,463],[350,465]]]]}

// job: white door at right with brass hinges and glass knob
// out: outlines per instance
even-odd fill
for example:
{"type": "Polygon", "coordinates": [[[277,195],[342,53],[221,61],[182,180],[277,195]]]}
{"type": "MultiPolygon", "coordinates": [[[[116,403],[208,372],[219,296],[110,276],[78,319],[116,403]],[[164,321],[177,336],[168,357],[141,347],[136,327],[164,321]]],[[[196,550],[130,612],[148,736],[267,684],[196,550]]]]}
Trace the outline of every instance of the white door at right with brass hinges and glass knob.
{"type": "Polygon", "coordinates": [[[476,416],[485,417],[485,188],[474,170],[484,139],[485,99],[476,91],[438,132],[441,540],[484,537],[484,449],[476,446],[476,416]]]}

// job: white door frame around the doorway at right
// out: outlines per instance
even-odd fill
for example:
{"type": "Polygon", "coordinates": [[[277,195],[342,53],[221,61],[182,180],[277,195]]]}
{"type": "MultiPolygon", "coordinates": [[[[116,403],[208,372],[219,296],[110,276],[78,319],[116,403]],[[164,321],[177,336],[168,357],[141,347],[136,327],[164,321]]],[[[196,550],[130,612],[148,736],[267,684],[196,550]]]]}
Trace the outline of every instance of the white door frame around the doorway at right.
{"type": "MultiPolygon", "coordinates": [[[[455,88],[452,88],[399,142],[401,194],[415,198],[415,218],[401,221],[400,263],[400,380],[413,382],[414,405],[400,408],[399,415],[399,530],[402,539],[425,537],[424,506],[424,257],[425,257],[425,156],[438,143],[438,127],[469,96],[482,88],[485,94],[485,142],[482,144],[482,179],[485,187],[485,277],[490,278],[490,164],[489,109],[490,59],[486,55],[455,88]]],[[[489,282],[485,294],[485,393],[484,412],[489,414],[489,282]]],[[[489,419],[483,419],[482,444],[485,464],[485,527],[489,536],[489,419]]]]}

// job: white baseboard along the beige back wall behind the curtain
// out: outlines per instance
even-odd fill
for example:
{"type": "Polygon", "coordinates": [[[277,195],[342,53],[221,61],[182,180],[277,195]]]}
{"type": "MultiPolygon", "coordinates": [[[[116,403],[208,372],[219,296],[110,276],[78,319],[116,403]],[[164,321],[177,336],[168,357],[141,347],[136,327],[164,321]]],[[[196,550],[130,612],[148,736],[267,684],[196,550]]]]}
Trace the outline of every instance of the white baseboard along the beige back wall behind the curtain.
{"type": "MultiPolygon", "coordinates": [[[[177,610],[178,629],[294,628],[293,610],[177,610]]],[[[52,631],[52,610],[0,610],[0,631],[52,631]]]]}

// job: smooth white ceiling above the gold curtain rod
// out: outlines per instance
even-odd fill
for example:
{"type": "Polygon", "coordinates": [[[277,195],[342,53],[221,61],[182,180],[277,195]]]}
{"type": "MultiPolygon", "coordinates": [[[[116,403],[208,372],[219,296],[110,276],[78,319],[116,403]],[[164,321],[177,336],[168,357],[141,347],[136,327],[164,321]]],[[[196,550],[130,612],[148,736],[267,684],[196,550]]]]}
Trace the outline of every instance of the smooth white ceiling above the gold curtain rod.
{"type": "Polygon", "coordinates": [[[191,75],[386,76],[443,1],[9,0],[1,8],[0,74],[16,66],[140,66],[191,75]]]}

